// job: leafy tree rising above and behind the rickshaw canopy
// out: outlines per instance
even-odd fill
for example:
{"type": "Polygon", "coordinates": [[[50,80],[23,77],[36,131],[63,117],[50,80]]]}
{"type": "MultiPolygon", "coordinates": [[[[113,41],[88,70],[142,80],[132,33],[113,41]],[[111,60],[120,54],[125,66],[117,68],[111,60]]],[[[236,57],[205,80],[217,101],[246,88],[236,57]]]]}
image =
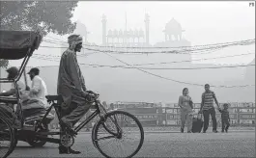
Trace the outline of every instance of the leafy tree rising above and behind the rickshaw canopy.
{"type": "MultiPolygon", "coordinates": [[[[1,30],[37,30],[58,35],[71,34],[76,23],[71,22],[78,1],[1,1],[1,30]]],[[[1,60],[0,66],[8,66],[1,60]]]]}

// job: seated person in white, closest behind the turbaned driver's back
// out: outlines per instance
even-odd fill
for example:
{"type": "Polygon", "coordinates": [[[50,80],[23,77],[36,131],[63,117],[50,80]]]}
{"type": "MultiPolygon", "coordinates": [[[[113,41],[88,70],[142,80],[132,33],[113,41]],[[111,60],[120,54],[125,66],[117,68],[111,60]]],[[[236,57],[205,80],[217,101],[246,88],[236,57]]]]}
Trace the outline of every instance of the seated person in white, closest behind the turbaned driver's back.
{"type": "Polygon", "coordinates": [[[40,69],[37,67],[31,68],[28,74],[32,84],[30,91],[27,92],[27,96],[23,96],[22,98],[23,116],[25,118],[37,112],[45,112],[45,105],[47,104],[45,98],[47,95],[47,88],[43,79],[39,76],[40,69]]]}

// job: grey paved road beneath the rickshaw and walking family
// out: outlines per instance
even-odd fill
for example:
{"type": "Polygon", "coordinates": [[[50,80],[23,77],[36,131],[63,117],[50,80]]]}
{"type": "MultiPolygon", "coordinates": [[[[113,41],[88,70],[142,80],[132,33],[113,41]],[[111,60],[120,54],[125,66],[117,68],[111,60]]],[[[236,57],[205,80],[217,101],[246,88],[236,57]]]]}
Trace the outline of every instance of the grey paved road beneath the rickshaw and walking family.
{"type": "MultiPolygon", "coordinates": [[[[57,145],[32,148],[18,143],[10,157],[102,157],[92,145],[91,135],[77,136],[73,148],[80,155],[59,155],[57,145]]],[[[135,157],[254,157],[255,131],[230,133],[146,133],[135,157]]]]}

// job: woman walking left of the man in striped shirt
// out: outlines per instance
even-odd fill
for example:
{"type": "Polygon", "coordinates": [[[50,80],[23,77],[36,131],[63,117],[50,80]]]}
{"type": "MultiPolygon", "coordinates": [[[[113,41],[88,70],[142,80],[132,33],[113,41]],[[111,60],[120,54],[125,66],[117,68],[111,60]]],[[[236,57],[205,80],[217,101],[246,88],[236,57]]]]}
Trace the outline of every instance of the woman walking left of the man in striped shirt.
{"type": "Polygon", "coordinates": [[[185,88],[183,90],[183,95],[179,97],[178,105],[181,107],[181,132],[184,133],[185,128],[185,120],[187,123],[187,133],[191,133],[192,130],[192,109],[193,109],[193,102],[191,97],[188,95],[188,89],[185,88]]]}

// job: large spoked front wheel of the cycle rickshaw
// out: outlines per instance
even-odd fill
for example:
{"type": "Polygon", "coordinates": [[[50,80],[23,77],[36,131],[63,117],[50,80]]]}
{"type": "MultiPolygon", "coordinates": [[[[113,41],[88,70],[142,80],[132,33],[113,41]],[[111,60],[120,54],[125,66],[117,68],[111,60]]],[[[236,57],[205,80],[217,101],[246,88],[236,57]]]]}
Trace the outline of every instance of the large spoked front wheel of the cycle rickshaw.
{"type": "Polygon", "coordinates": [[[93,131],[93,143],[105,157],[132,157],[144,142],[144,130],[137,118],[113,111],[100,120],[93,131]]]}

